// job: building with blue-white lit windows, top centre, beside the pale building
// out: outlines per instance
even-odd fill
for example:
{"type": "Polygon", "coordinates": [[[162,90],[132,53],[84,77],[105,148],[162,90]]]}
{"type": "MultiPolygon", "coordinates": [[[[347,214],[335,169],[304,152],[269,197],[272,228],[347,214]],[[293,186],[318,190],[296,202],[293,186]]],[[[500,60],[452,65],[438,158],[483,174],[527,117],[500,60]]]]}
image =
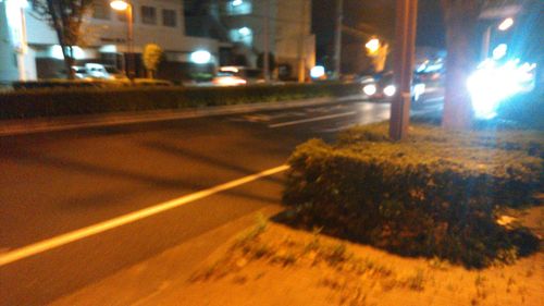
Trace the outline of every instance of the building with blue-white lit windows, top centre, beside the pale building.
{"type": "Polygon", "coordinates": [[[233,44],[222,64],[262,69],[268,50],[275,77],[302,81],[316,63],[311,0],[185,0],[185,8],[189,32],[233,44]]]}

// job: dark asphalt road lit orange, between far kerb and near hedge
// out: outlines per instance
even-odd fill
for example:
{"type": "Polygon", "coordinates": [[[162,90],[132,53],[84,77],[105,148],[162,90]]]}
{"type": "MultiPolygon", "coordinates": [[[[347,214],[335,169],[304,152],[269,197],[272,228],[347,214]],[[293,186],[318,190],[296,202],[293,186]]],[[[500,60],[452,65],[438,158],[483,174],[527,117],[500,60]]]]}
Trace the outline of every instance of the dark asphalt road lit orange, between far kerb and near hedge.
{"type": "MultiPolygon", "coordinates": [[[[0,137],[0,258],[276,168],[308,138],[331,140],[339,130],[385,120],[388,112],[386,103],[354,99],[0,137]]],[[[0,305],[51,303],[183,243],[189,245],[180,255],[181,265],[188,271],[243,224],[223,234],[209,233],[257,211],[281,209],[282,174],[0,264],[0,305]],[[199,237],[207,234],[202,243],[199,237]],[[198,242],[198,247],[189,242],[198,242]]]]}

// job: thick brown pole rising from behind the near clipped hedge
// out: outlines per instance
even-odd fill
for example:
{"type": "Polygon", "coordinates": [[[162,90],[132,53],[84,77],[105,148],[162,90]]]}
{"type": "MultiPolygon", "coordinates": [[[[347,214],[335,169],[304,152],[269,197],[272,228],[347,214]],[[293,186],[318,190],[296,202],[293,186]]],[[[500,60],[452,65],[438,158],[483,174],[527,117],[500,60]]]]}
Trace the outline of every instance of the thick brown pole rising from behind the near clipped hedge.
{"type": "Polygon", "coordinates": [[[394,54],[397,93],[393,98],[390,119],[390,137],[394,140],[400,140],[408,135],[417,19],[418,0],[397,0],[394,54]]]}

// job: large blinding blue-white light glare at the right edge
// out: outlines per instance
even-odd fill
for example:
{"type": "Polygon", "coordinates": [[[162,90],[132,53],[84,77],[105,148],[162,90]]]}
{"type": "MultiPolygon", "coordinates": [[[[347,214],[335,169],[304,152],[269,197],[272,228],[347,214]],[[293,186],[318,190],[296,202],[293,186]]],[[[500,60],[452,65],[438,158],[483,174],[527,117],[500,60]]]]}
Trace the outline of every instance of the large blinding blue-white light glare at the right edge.
{"type": "Polygon", "coordinates": [[[474,114],[480,119],[493,119],[502,101],[532,90],[534,68],[528,63],[519,65],[519,60],[503,65],[493,60],[482,62],[467,81],[474,114]]]}

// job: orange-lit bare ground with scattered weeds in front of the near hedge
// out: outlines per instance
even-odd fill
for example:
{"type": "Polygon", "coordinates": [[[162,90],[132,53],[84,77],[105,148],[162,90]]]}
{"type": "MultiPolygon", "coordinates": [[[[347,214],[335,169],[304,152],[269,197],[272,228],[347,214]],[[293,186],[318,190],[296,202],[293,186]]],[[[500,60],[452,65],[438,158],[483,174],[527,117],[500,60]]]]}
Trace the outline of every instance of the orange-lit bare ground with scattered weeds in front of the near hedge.
{"type": "MultiPolygon", "coordinates": [[[[542,233],[542,207],[527,215],[542,233]]],[[[276,223],[225,244],[165,301],[181,305],[544,305],[544,253],[468,270],[276,223]]]]}

